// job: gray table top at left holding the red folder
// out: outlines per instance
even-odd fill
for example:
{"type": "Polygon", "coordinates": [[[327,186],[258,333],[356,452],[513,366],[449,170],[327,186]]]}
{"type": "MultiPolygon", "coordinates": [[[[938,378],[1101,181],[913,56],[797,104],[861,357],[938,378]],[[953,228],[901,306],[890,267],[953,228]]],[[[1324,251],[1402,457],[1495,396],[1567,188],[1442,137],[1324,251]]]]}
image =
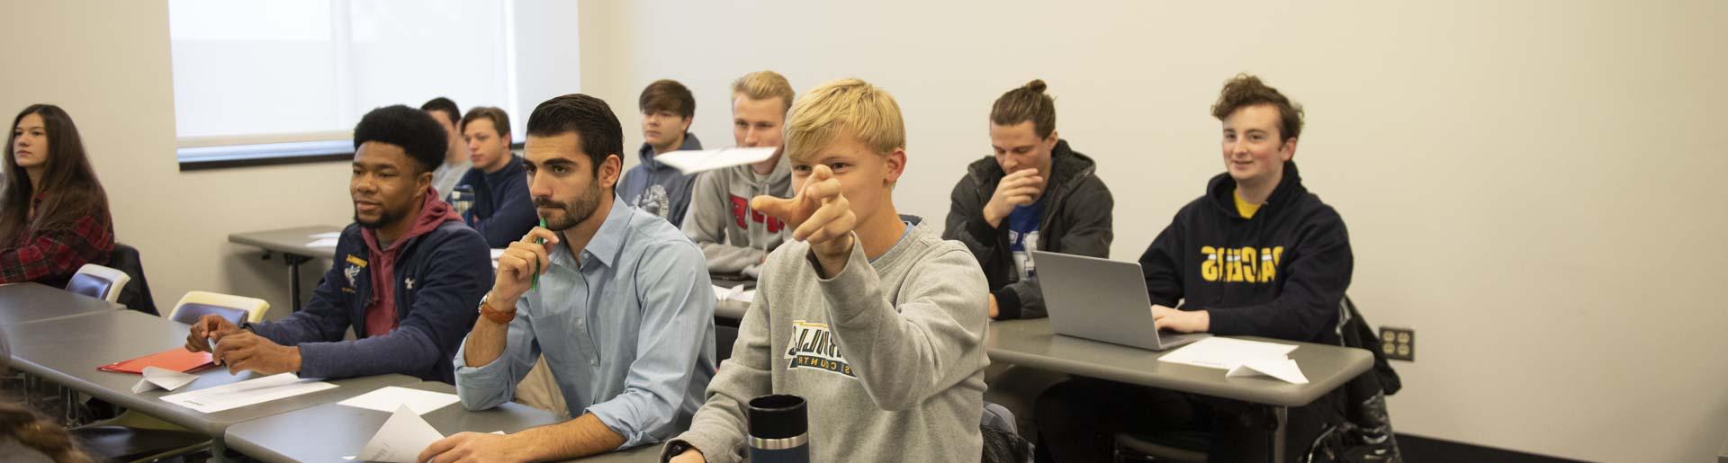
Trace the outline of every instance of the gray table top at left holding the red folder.
{"type": "Polygon", "coordinates": [[[218,439],[230,425],[245,420],[337,403],[385,385],[420,382],[420,378],[406,375],[330,380],[337,387],[218,413],[200,413],[161,397],[263,375],[251,371],[230,375],[228,370],[209,368],[197,373],[197,382],[175,392],[156,389],[133,394],[131,385],[138,384],[142,377],[97,370],[102,365],[185,346],[188,330],[185,323],[135,311],[105,311],[9,325],[0,327],[0,330],[5,330],[7,342],[12,346],[12,368],[218,439]]]}

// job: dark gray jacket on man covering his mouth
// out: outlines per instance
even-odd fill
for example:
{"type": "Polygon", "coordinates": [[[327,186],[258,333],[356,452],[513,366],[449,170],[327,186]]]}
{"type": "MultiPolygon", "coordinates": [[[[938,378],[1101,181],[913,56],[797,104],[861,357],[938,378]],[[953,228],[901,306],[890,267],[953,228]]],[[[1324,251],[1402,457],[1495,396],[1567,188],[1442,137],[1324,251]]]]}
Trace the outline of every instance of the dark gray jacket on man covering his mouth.
{"type": "MultiPolygon", "coordinates": [[[[1044,216],[1039,219],[1039,251],[1109,257],[1116,200],[1094,174],[1096,169],[1092,157],[1068,149],[1068,140],[1056,142],[1051,150],[1049,187],[1044,188],[1044,216]]],[[[966,168],[966,176],[954,185],[949,228],[942,238],[966,244],[983,264],[990,294],[995,295],[997,320],[1044,318],[1044,292],[1037,276],[1020,280],[1013,251],[1007,249],[1007,228],[990,226],[983,219],[983,206],[990,202],[1002,176],[1006,173],[994,157],[978,159],[966,168]]]]}

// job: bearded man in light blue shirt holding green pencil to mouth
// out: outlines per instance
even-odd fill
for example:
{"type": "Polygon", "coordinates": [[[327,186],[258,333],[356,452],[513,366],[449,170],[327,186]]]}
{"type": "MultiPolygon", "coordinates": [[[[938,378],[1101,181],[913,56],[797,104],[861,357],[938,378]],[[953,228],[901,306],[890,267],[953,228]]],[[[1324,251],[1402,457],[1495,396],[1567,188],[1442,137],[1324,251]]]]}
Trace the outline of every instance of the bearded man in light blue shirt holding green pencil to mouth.
{"type": "Polygon", "coordinates": [[[715,301],[702,251],[615,197],[624,135],[612,109],[556,97],[534,109],[527,133],[529,193],[546,226],[498,259],[456,352],[456,396],[468,409],[508,403],[544,354],[581,416],[451,435],[420,461],[567,460],[655,444],[689,427],[714,378],[715,301]]]}

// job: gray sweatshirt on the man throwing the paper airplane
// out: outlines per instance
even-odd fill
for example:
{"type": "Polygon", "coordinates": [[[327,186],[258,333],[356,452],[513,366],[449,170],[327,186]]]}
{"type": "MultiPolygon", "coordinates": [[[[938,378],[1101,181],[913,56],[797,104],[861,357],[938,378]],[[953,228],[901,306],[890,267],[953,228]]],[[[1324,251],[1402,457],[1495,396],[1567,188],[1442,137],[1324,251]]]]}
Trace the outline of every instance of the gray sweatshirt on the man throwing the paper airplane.
{"type": "Polygon", "coordinates": [[[923,225],[874,263],[854,245],[829,280],[812,259],[805,242],[769,256],[733,358],[665,451],[688,444],[738,461],[743,404],[797,394],[809,403],[810,461],[978,461],[988,294],[971,252],[923,225]]]}

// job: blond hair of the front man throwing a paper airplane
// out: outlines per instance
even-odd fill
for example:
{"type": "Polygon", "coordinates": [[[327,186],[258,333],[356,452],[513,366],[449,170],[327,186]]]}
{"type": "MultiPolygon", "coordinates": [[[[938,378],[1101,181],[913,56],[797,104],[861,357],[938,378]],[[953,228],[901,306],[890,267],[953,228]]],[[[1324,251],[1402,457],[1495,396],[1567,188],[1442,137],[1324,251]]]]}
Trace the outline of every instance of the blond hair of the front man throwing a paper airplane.
{"type": "Polygon", "coordinates": [[[786,155],[805,159],[835,140],[852,135],[876,154],[905,149],[905,121],[893,95],[862,79],[835,79],[798,98],[786,116],[786,155]]]}

